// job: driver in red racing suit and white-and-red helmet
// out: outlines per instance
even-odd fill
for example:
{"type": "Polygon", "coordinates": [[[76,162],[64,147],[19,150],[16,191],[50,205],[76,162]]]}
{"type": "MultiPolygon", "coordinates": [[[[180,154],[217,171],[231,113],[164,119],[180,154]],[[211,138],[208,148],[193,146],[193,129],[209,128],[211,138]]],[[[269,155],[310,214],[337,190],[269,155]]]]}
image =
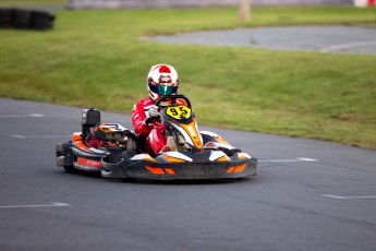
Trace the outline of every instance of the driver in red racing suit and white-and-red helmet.
{"type": "MultiPolygon", "coordinates": [[[[145,142],[145,150],[153,156],[160,152],[171,151],[166,144],[165,125],[158,122],[159,107],[156,100],[162,95],[174,95],[178,93],[179,76],[175,69],[169,64],[156,64],[150,68],[147,75],[148,97],[137,101],[132,111],[132,122],[135,134],[141,142],[145,142]]],[[[177,104],[186,105],[181,100],[177,104]]],[[[160,104],[160,106],[166,104],[160,104]]]]}

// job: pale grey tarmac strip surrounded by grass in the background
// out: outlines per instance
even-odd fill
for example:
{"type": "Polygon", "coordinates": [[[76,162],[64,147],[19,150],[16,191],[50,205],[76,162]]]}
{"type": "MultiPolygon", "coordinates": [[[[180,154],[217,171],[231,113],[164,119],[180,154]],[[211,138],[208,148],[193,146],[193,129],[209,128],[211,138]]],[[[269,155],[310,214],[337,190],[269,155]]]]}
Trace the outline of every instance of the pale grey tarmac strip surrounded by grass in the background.
{"type": "Polygon", "coordinates": [[[255,27],[142,39],[170,44],[376,55],[376,28],[360,26],[255,27]]]}

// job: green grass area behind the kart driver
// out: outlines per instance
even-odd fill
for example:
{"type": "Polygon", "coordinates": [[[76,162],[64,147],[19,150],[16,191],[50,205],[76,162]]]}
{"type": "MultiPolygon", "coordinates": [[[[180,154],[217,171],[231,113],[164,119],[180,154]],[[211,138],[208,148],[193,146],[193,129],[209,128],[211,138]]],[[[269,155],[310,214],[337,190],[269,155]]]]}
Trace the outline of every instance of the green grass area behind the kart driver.
{"type": "MultiPolygon", "coordinates": [[[[1,1],[0,1],[1,3],[1,1]]],[[[149,67],[180,74],[201,124],[376,150],[376,57],[163,45],[141,36],[241,26],[376,26],[373,9],[234,8],[57,12],[49,32],[0,31],[0,96],[130,113],[149,67]]],[[[121,121],[119,121],[121,122],[121,121]]]]}

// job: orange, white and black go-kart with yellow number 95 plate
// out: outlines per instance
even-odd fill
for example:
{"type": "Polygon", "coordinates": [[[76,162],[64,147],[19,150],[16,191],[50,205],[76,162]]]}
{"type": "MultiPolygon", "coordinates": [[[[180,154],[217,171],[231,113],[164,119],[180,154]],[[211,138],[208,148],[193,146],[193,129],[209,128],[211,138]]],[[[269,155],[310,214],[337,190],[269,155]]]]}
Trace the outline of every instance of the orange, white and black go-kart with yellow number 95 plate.
{"type": "Polygon", "coordinates": [[[58,166],[68,172],[96,171],[105,178],[123,180],[239,179],[257,175],[255,157],[216,133],[198,130],[187,97],[165,95],[156,105],[162,107],[154,127],[166,128],[168,152],[151,156],[143,146],[145,142],[132,131],[120,124],[102,123],[98,110],[85,109],[82,132],[57,145],[58,166]]]}

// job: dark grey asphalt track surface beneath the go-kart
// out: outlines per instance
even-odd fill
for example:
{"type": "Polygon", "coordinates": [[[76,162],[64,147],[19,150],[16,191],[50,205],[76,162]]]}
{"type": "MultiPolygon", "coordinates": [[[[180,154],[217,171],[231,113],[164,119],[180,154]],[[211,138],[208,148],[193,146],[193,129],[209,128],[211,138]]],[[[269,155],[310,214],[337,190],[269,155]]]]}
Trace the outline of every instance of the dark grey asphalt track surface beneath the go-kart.
{"type": "Polygon", "coordinates": [[[375,250],[376,152],[202,127],[256,156],[259,176],[124,183],[56,166],[80,119],[0,98],[0,250],[375,250]]]}

